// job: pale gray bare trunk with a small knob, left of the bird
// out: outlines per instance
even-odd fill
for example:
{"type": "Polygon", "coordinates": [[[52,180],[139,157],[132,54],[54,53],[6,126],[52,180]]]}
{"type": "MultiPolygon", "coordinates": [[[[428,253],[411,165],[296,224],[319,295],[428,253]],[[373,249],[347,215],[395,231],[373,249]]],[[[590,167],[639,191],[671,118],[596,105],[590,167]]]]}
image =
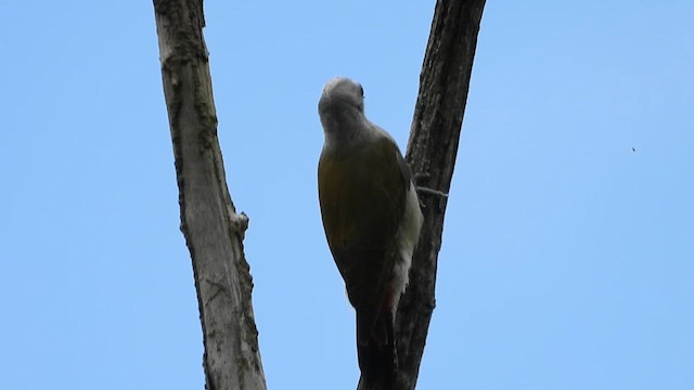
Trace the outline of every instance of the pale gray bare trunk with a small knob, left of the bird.
{"type": "Polygon", "coordinates": [[[202,0],[154,0],[164,94],[176,159],[181,231],[193,273],[209,390],[262,390],[248,263],[217,139],[202,0]]]}

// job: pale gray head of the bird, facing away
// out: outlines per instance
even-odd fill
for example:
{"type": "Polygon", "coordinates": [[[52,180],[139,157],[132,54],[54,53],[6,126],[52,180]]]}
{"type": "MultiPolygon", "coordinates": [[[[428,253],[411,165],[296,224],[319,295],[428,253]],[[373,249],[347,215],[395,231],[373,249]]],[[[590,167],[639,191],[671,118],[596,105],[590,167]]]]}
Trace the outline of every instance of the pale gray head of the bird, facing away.
{"type": "Polygon", "coordinates": [[[349,132],[365,120],[363,88],[344,77],[327,81],[318,102],[318,114],[326,135],[349,132]]]}

